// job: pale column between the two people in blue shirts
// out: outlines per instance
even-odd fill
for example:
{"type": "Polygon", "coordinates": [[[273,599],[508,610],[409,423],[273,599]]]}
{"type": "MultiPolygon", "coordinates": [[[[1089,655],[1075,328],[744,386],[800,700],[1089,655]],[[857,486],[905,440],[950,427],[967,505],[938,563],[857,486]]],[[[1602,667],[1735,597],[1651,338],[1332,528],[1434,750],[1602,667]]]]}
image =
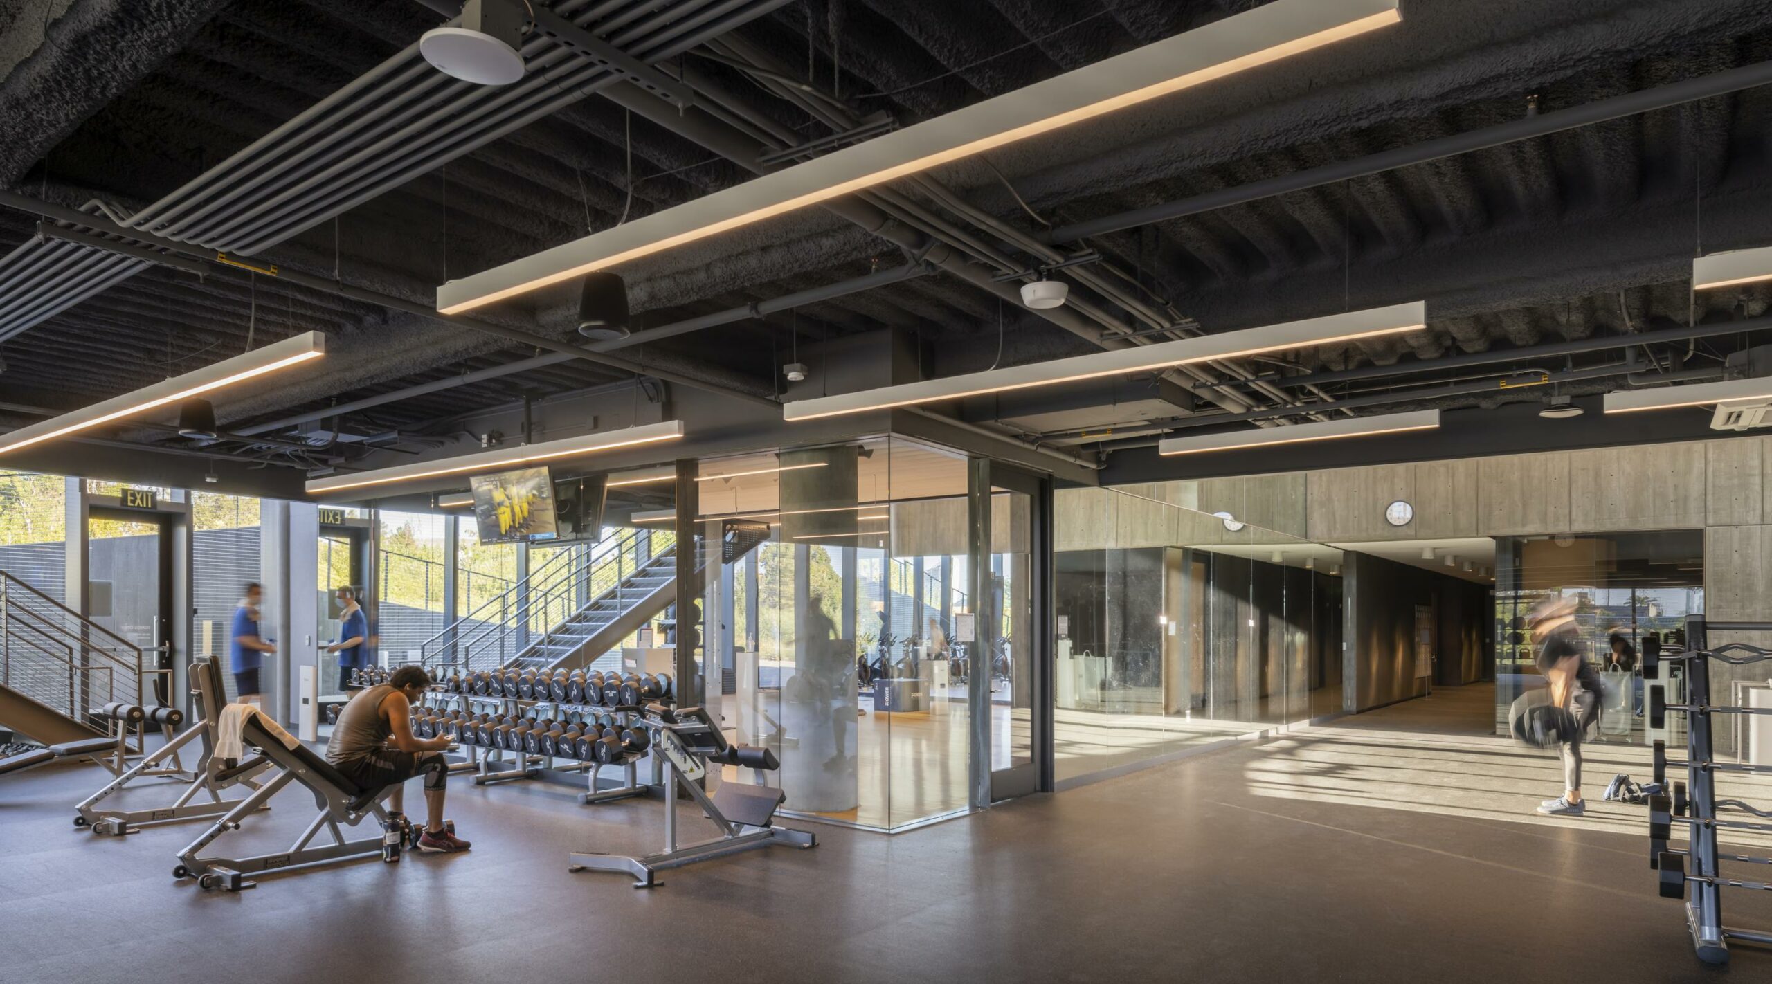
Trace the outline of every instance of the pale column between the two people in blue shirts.
{"type": "Polygon", "coordinates": [[[259,628],[276,642],[262,670],[264,709],[284,727],[296,725],[301,667],[321,667],[319,640],[319,507],[312,502],[266,498],[259,504],[259,583],[264,585],[259,628]]]}

